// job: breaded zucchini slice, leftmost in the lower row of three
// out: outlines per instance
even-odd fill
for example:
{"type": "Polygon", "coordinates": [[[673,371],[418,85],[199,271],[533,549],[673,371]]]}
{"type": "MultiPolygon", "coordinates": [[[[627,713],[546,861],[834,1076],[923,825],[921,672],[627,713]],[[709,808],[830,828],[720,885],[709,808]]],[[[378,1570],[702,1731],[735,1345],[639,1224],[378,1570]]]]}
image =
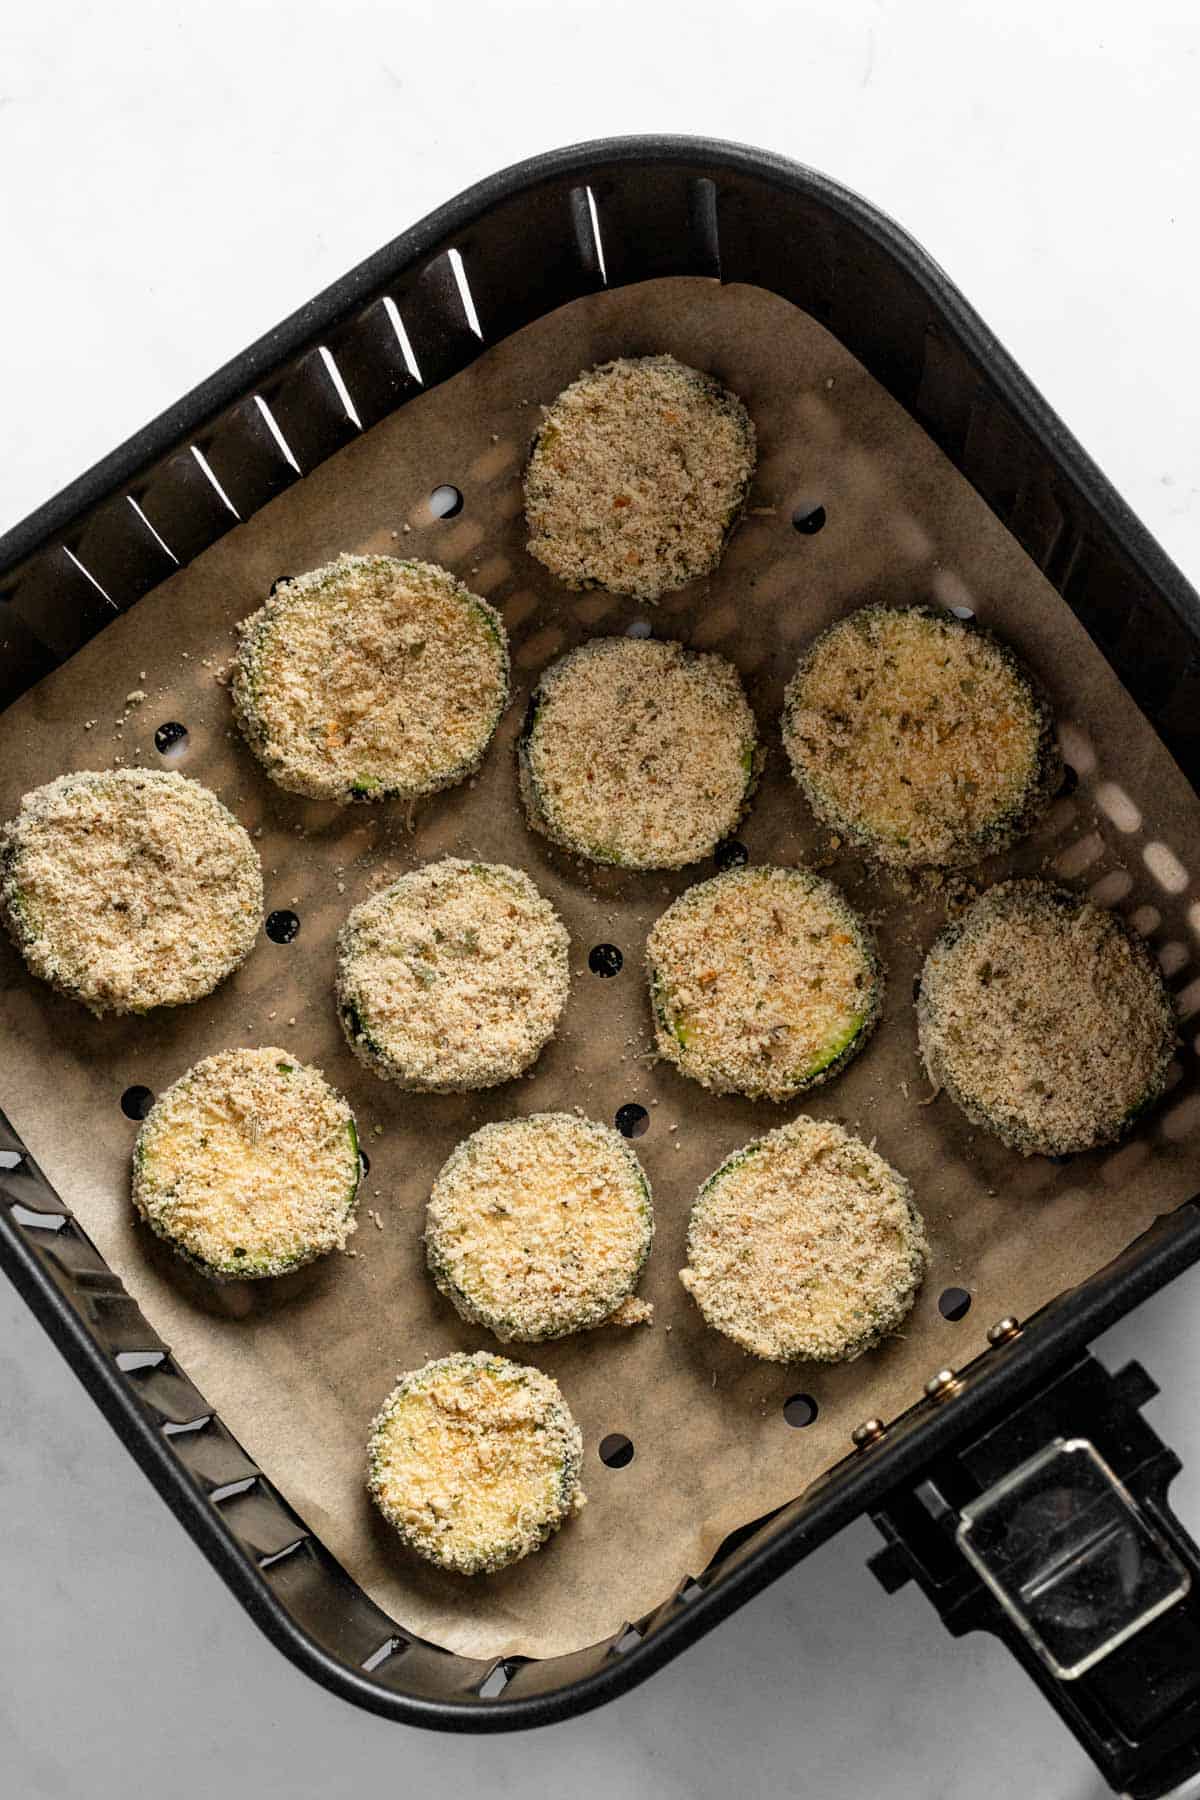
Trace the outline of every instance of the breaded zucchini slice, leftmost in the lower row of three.
{"type": "Polygon", "coordinates": [[[223,1049],[182,1075],[133,1147],[133,1204],[214,1280],[286,1274],[354,1229],[354,1116],[286,1049],[223,1049]]]}

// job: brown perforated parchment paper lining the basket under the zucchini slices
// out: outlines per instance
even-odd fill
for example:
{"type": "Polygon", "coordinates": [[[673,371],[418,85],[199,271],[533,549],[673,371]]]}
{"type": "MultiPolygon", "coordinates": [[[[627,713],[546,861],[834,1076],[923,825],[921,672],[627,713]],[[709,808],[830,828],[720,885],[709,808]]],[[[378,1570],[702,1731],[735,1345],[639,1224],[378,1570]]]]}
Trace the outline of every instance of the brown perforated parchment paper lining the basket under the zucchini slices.
{"type": "MultiPolygon", "coordinates": [[[[4,815],[25,788],[65,769],[115,756],[158,767],[155,727],[180,720],[189,745],[178,767],[257,833],[268,909],[300,916],[293,943],[263,938],[218,994],[149,1019],[88,1017],[32,981],[4,943],[0,1098],[250,1456],[351,1575],[419,1636],[475,1656],[540,1656],[617,1631],[698,1573],[727,1532],[840,1460],[853,1426],[892,1418],[934,1370],[975,1355],[988,1325],[1074,1285],[1196,1188],[1200,1096],[1189,1051],[1175,1091],[1128,1145],[1060,1166],[973,1134],[945,1098],[921,1105],[912,981],[945,905],[907,896],[856,860],[835,860],[829,873],[880,918],[889,999],[865,1055],[804,1111],[878,1139],[910,1175],[934,1246],[928,1280],[903,1334],[844,1368],[754,1363],[702,1327],[678,1285],[700,1181],[801,1107],[718,1100],[646,1057],[646,929],[712,866],[669,877],[581,871],[525,830],[513,740],[545,662],[649,619],[658,635],[723,652],[747,680],[770,751],[743,830],[750,855],[819,855],[824,841],[779,743],[783,688],[806,639],[869,598],[973,607],[1020,646],[1052,693],[1081,779],[986,878],[1052,868],[1119,904],[1160,949],[1184,1012],[1200,1004],[1200,808],[1182,774],[1065,605],[925,434],[820,326],[754,288],[657,281],[529,326],[297,482],[0,718],[4,815]],[[538,403],[604,356],[662,349],[745,398],[761,448],[750,517],[718,574],[658,608],[569,594],[524,551],[520,468],[538,403]],[[457,518],[430,515],[439,482],[462,490],[457,518]],[[793,508],[817,502],[828,524],[802,536],[793,508]],[[426,803],[412,828],[396,806],[338,810],[273,788],[232,731],[218,680],[234,621],[263,601],[272,580],[347,549],[446,563],[500,607],[513,639],[516,691],[479,779],[426,803]],[[119,733],[124,697],[137,688],[149,698],[119,733]],[[480,1096],[408,1096],[385,1085],[349,1055],[333,1010],[344,914],[376,884],[444,853],[529,869],[574,945],[556,1042],[533,1076],[480,1096]],[[622,949],[617,977],[588,972],[594,943],[622,949]],[[210,1289],[131,1219],[135,1125],[119,1096],[135,1082],[160,1091],[200,1057],[257,1042],[313,1060],[347,1094],[371,1157],[362,1224],[353,1256],[279,1283],[210,1289]],[[642,1283],[655,1325],[509,1352],[560,1379],[583,1427],[590,1505],[540,1555],[498,1577],[439,1575],[394,1544],[362,1489],[367,1426],[394,1377],[430,1355],[489,1345],[425,1274],[430,1183],[459,1138],[488,1120],[572,1105],[612,1120],[630,1100],[649,1111],[637,1150],[658,1222],[642,1283]],[[957,1325],[937,1310],[946,1285],[973,1296],[957,1325]],[[806,1429],[783,1417],[797,1391],[820,1408],[806,1429]],[[633,1440],[624,1469],[599,1462],[610,1431],[633,1440]]],[[[1193,1030],[1184,1026],[1184,1037],[1193,1030]]]]}

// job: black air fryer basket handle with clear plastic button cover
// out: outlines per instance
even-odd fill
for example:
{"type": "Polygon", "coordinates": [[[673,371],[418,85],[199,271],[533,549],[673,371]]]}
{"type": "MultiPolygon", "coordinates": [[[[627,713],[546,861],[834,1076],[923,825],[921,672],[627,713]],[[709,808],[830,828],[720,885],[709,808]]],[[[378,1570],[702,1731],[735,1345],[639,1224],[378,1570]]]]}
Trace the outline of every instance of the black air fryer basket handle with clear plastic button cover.
{"type": "Polygon", "coordinates": [[[954,1636],[1007,1643],[1132,1800],[1200,1771],[1200,1552],[1141,1417],[1157,1391],[1085,1352],[871,1514],[883,1588],[916,1580],[954,1636]]]}

